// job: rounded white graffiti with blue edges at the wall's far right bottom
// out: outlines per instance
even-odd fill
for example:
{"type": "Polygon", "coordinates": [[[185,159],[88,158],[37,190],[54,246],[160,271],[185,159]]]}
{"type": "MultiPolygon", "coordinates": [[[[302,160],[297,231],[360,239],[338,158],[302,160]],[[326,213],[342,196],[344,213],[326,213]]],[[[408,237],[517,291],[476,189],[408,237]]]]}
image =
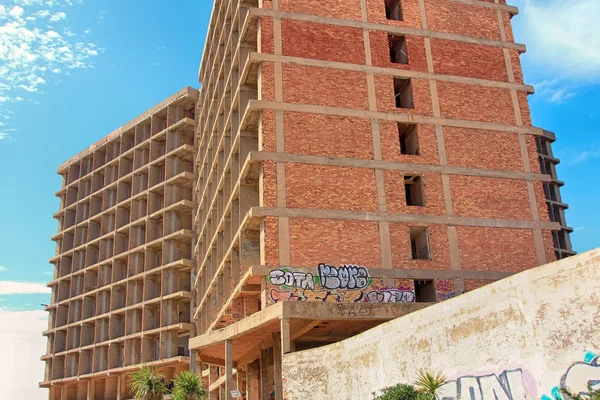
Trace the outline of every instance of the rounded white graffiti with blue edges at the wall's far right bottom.
{"type": "Polygon", "coordinates": [[[585,394],[592,390],[600,390],[600,354],[588,351],[583,362],[571,365],[560,380],[560,386],[552,389],[552,396],[543,395],[542,400],[563,399],[561,389],[570,393],[585,394]]]}

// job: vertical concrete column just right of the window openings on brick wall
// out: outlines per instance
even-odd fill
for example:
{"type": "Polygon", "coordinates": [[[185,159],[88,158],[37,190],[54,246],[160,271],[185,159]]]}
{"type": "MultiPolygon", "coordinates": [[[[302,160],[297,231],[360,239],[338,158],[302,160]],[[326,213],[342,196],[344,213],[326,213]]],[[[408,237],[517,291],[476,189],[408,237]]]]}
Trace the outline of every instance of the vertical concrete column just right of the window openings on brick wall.
{"type": "MultiPolygon", "coordinates": [[[[419,0],[419,10],[421,13],[421,26],[423,29],[429,29],[427,23],[427,10],[425,8],[425,0],[419,0]]],[[[431,50],[431,39],[425,38],[425,56],[427,58],[427,72],[433,74],[433,53],[431,50]]],[[[440,107],[440,99],[438,95],[437,81],[431,79],[429,81],[429,89],[431,91],[431,102],[433,107],[434,117],[441,117],[442,110],[440,107]]],[[[435,125],[435,138],[438,148],[438,158],[441,166],[448,165],[448,156],[446,154],[446,143],[444,140],[444,127],[442,125],[435,125]]],[[[444,196],[444,205],[446,208],[446,215],[451,217],[454,216],[454,204],[452,202],[452,188],[450,186],[450,176],[442,173],[442,192],[444,196]]],[[[450,247],[450,266],[453,270],[459,271],[462,269],[460,262],[460,249],[458,244],[458,233],[456,226],[448,226],[448,244],[450,247]]],[[[465,284],[462,278],[455,278],[453,280],[454,291],[456,293],[463,293],[465,290],[465,284]]]]}

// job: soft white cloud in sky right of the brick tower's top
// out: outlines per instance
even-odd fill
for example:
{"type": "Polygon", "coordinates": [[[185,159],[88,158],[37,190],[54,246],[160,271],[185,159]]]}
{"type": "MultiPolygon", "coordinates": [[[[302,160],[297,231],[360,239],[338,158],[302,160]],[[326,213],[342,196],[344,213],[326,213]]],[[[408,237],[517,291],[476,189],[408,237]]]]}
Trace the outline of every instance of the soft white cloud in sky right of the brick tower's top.
{"type": "Polygon", "coordinates": [[[523,62],[536,80],[551,85],[538,94],[549,102],[573,97],[577,88],[600,83],[598,0],[515,0],[517,40],[527,44],[523,62]]]}

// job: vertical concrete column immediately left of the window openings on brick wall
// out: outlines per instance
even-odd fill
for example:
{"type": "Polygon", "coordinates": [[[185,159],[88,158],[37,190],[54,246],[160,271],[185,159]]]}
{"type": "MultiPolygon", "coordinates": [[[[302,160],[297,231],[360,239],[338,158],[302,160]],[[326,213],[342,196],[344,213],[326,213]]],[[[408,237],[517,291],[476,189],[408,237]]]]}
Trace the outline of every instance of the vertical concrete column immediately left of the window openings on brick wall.
{"type": "MultiPolygon", "coordinates": [[[[361,20],[368,21],[367,2],[360,1],[361,20]]],[[[363,29],[363,43],[365,46],[365,61],[367,65],[373,65],[371,56],[371,39],[369,30],[363,29]]],[[[369,111],[377,111],[377,91],[375,88],[375,76],[372,72],[367,72],[367,90],[369,96],[369,111]]],[[[371,136],[373,142],[373,159],[381,161],[381,136],[379,132],[379,120],[371,119],[371,136]]],[[[377,190],[377,204],[379,212],[387,212],[387,201],[385,196],[384,172],[381,169],[375,169],[375,185],[377,190]]],[[[379,222],[379,240],[381,247],[381,265],[383,268],[392,269],[392,244],[390,239],[390,225],[388,222],[379,222]]],[[[383,278],[384,286],[394,287],[393,278],[383,278]]]]}

